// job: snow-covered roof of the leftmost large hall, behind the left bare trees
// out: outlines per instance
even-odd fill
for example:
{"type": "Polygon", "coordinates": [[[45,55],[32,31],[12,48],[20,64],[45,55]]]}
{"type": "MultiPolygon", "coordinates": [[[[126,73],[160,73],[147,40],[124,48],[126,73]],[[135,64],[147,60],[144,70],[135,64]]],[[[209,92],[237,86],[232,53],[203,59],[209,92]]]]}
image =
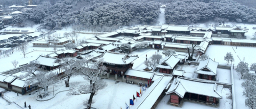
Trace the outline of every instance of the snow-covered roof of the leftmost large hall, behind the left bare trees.
{"type": "MultiPolygon", "coordinates": [[[[36,60],[39,62],[40,65],[44,65],[44,66],[59,66],[60,63],[57,63],[58,58],[52,58],[52,57],[45,57],[45,56],[39,56],[36,60]]],[[[33,62],[33,61],[31,61],[33,62]]]]}

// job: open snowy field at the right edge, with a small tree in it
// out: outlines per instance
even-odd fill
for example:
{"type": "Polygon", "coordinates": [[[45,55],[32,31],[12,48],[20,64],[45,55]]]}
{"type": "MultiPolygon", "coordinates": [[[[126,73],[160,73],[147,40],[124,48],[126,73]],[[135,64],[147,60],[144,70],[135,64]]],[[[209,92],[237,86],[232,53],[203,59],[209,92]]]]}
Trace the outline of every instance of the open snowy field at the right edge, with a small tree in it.
{"type": "MultiPolygon", "coordinates": [[[[227,65],[227,61],[224,60],[224,57],[226,56],[227,52],[231,52],[233,54],[233,57],[235,59],[235,66],[240,61],[243,61],[245,58],[245,62],[249,64],[249,67],[251,66],[251,63],[256,62],[256,58],[254,57],[256,50],[255,47],[237,47],[236,46],[220,46],[220,45],[211,45],[206,50],[206,55],[208,55],[211,59],[215,59],[216,62],[219,62],[221,65],[227,65]],[[234,50],[233,50],[234,48],[234,50]],[[238,58],[239,57],[239,58],[238,58]]],[[[233,64],[232,63],[232,64],[233,64]]],[[[229,62],[230,65],[230,62],[229,62]]]]}

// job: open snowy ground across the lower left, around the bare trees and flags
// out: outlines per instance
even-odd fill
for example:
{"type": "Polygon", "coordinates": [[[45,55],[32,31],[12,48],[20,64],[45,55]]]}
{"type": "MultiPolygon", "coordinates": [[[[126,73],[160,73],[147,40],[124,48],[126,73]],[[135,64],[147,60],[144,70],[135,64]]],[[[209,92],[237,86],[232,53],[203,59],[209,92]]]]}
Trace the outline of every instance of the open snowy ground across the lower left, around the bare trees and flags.
{"type": "MultiPolygon", "coordinates": [[[[136,92],[139,92],[139,88],[137,85],[126,84],[123,82],[119,82],[115,84],[114,80],[105,79],[107,83],[107,87],[104,89],[99,90],[99,92],[93,97],[94,104],[92,107],[95,108],[125,108],[125,102],[129,103],[129,98],[132,98],[136,92]]],[[[70,79],[70,84],[85,84],[86,81],[82,77],[74,77],[70,79]],[[78,82],[78,83],[77,83],[78,82]]],[[[61,83],[65,85],[64,81],[61,83]]],[[[59,84],[59,85],[61,85],[59,84]]],[[[55,85],[54,85],[55,86],[55,85]]],[[[54,90],[56,90],[54,87],[54,90]]],[[[52,86],[49,86],[49,92],[52,91],[52,86]]],[[[65,86],[61,87],[59,90],[67,90],[65,86]]],[[[41,91],[42,92],[42,91],[41,91]]],[[[58,91],[55,91],[56,93],[58,91]]],[[[52,94],[52,93],[50,93],[52,94]]],[[[11,101],[14,101],[20,106],[24,106],[24,102],[27,105],[31,105],[31,108],[84,108],[83,101],[89,98],[89,94],[82,94],[82,95],[71,95],[68,96],[67,92],[58,93],[54,98],[50,99],[49,101],[39,102],[36,101],[37,93],[32,95],[19,95],[15,94],[14,92],[6,93],[5,96],[9,98],[11,101]]],[[[0,98],[1,99],[1,98],[0,98]]],[[[139,98],[138,98],[139,99],[139,98]]],[[[2,101],[0,100],[0,104],[2,101]]],[[[4,103],[4,102],[3,102],[4,103]]],[[[135,102],[136,103],[136,102],[135,102]]],[[[4,106],[9,108],[14,108],[15,105],[7,105],[4,106]]]]}

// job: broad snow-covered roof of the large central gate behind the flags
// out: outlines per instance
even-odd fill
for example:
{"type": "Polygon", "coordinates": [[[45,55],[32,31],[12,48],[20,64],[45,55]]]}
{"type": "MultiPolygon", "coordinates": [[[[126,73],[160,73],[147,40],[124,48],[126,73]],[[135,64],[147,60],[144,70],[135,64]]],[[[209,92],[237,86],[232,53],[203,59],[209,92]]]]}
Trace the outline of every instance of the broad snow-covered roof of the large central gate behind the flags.
{"type": "Polygon", "coordinates": [[[127,55],[126,53],[116,53],[116,52],[106,51],[105,53],[103,53],[102,58],[106,63],[114,63],[117,65],[127,65],[139,57],[138,55],[131,56],[131,55],[127,55]]]}

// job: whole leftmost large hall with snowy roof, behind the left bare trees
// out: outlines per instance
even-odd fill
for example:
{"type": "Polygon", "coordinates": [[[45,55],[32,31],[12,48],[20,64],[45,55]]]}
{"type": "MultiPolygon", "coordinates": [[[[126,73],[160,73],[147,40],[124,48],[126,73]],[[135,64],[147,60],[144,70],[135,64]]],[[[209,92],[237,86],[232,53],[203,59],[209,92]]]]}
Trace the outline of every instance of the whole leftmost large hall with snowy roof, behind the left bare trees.
{"type": "Polygon", "coordinates": [[[37,61],[41,65],[40,67],[44,66],[46,70],[53,70],[59,68],[60,66],[60,60],[58,58],[39,56],[36,60],[31,62],[35,61],[37,61]]]}

